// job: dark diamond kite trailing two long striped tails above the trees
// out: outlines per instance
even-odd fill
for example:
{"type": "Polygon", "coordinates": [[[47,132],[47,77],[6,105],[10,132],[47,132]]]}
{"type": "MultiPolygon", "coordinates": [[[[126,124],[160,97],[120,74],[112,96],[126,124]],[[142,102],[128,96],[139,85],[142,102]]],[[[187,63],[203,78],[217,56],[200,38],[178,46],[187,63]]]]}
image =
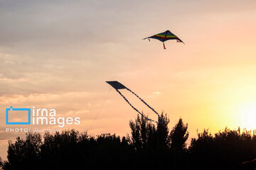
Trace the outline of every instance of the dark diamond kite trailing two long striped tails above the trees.
{"type": "Polygon", "coordinates": [[[144,115],[143,113],[139,112],[137,110],[137,108],[134,108],[134,106],[132,106],[132,104],[127,100],[127,98],[124,97],[123,94],[121,94],[121,92],[119,91],[119,89],[127,89],[127,91],[131,92],[132,94],[134,94],[135,96],[137,96],[137,98],[139,98],[139,100],[141,100],[147,107],[149,107],[152,111],[154,111],[154,113],[156,113],[156,115],[158,115],[159,120],[161,120],[161,122],[159,123],[164,123],[163,118],[161,118],[161,116],[159,115],[159,113],[157,113],[154,108],[151,108],[151,106],[149,106],[142,98],[140,98],[137,94],[135,94],[133,91],[131,91],[130,89],[128,89],[126,86],[124,86],[123,84],[119,83],[118,81],[106,81],[106,83],[110,84],[110,86],[112,86],[117,93],[119,93],[122,98],[124,98],[124,100],[129,104],[129,106],[131,106],[135,111],[137,111],[137,113],[139,113],[140,115],[142,115],[144,118],[146,118],[147,120],[151,121],[151,122],[155,122],[158,123],[158,121],[156,120],[152,120],[148,117],[146,117],[146,115],[144,115]]]}

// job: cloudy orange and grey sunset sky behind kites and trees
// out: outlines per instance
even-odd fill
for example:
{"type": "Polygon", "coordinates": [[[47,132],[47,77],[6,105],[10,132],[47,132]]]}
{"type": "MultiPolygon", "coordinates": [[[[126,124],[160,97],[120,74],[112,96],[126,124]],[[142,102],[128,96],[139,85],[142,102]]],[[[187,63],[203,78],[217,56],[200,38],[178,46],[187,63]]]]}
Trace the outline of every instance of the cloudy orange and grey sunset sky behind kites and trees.
{"type": "Polygon", "coordinates": [[[170,128],[183,118],[190,138],[256,128],[255,16],[255,0],[0,0],[0,157],[21,135],[6,128],[26,127],[6,125],[10,106],[54,108],[80,117],[65,129],[126,136],[137,113],[110,80],[164,111],[170,128]],[[186,45],[142,40],[165,30],[186,45]]]}

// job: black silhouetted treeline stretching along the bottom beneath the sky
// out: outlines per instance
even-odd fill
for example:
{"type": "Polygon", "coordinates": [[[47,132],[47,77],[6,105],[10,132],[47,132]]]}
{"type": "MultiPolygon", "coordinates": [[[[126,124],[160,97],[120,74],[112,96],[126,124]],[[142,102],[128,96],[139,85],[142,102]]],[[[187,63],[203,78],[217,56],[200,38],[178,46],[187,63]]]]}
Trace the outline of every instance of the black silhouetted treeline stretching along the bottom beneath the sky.
{"type": "Polygon", "coordinates": [[[169,130],[138,115],[129,122],[131,135],[103,134],[96,137],[75,130],[40,134],[9,142],[4,170],[12,169],[254,169],[256,135],[250,131],[208,130],[188,140],[183,120],[169,130]]]}

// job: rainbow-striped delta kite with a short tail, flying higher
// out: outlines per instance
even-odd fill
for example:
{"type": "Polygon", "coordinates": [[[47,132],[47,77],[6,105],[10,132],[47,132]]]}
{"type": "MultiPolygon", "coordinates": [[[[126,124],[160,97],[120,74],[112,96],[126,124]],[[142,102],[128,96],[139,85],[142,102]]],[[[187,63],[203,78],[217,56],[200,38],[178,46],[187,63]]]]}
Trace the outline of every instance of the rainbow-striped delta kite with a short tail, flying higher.
{"type": "MultiPolygon", "coordinates": [[[[159,34],[153,35],[151,37],[144,38],[143,40],[148,39],[150,41],[149,38],[154,38],[156,40],[160,40],[161,42],[163,42],[163,45],[166,40],[177,40],[177,42],[182,42],[183,44],[185,44],[181,39],[179,39],[176,35],[171,33],[171,31],[169,31],[169,30],[166,30],[164,33],[159,33],[159,34]]],[[[164,45],[164,49],[166,49],[165,45],[164,45]]]]}

